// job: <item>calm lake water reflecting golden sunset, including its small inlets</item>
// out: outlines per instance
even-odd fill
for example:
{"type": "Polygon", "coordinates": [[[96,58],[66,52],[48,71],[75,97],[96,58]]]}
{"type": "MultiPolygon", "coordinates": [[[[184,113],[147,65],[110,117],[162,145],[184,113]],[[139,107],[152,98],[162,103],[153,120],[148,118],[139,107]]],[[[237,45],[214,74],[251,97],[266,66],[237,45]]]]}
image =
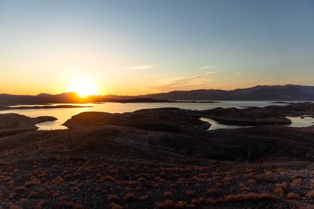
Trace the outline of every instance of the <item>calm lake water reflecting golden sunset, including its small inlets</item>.
{"type": "MultiPolygon", "coordinates": [[[[79,106],[93,106],[93,107],[79,107],[79,108],[56,108],[56,109],[29,109],[29,110],[5,110],[0,111],[0,113],[18,113],[21,115],[26,115],[29,117],[38,117],[38,116],[53,116],[58,118],[55,121],[47,121],[44,123],[38,123],[36,126],[39,127],[40,130],[50,130],[50,129],[66,129],[67,127],[62,126],[66,120],[71,118],[73,115],[77,115],[80,112],[88,112],[88,111],[97,111],[97,112],[110,112],[110,113],[123,113],[123,112],[133,112],[135,110],[147,109],[147,108],[159,108],[159,107],[179,107],[182,109],[190,109],[190,110],[206,110],[213,109],[216,107],[238,107],[240,106],[254,106],[254,107],[265,107],[268,105],[267,102],[272,101],[224,101],[223,103],[114,103],[107,102],[105,104],[70,104],[70,105],[79,105],[79,106]]],[[[53,104],[53,105],[68,105],[68,104],[53,104]]],[[[286,105],[286,104],[276,104],[276,105],[286,105]]],[[[40,106],[40,105],[21,105],[21,106],[40,106]]],[[[18,107],[18,106],[14,106],[18,107]]],[[[287,117],[293,123],[287,126],[293,127],[306,127],[310,125],[314,125],[314,118],[304,118],[300,117],[287,117]]],[[[201,120],[207,121],[212,124],[209,130],[214,130],[218,128],[240,128],[243,126],[235,126],[235,125],[223,125],[219,122],[209,119],[209,118],[201,118],[201,120]]]]}

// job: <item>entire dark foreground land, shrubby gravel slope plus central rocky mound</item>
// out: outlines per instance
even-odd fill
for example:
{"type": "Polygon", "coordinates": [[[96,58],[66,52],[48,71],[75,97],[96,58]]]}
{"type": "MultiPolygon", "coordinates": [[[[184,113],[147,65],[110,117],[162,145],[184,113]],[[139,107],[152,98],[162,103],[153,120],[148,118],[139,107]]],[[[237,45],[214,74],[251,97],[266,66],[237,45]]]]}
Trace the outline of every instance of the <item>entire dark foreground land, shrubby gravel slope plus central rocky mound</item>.
{"type": "Polygon", "coordinates": [[[1,138],[0,208],[313,208],[314,126],[205,132],[198,114],[88,112],[1,138]]]}

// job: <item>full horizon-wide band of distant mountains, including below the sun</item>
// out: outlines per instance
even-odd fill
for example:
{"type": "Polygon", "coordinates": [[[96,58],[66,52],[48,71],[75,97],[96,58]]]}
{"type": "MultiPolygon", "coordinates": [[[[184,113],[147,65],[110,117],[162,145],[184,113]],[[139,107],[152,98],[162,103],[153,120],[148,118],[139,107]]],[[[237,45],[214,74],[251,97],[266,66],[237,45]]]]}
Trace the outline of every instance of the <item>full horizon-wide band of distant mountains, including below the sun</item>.
{"type": "MultiPolygon", "coordinates": [[[[40,93],[36,96],[0,94],[0,105],[47,104],[47,103],[87,103],[87,102],[121,102],[121,100],[152,98],[157,100],[250,100],[250,101],[314,101],[314,86],[254,86],[231,91],[199,89],[191,91],[170,91],[167,93],[146,94],[138,96],[89,95],[80,97],[76,92],[51,95],[40,93]]],[[[141,100],[139,100],[141,101],[141,100]]]]}

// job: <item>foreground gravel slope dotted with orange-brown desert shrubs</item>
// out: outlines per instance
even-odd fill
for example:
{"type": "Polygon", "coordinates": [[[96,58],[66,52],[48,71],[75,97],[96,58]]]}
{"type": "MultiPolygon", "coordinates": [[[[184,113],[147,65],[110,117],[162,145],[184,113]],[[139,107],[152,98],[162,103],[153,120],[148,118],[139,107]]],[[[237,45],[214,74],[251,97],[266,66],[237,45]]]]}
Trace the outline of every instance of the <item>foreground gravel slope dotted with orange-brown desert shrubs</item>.
{"type": "Polygon", "coordinates": [[[180,201],[186,202],[181,208],[314,208],[314,196],[306,196],[314,190],[310,162],[196,159],[110,141],[95,147],[84,139],[37,140],[36,134],[21,134],[34,140],[1,152],[0,208],[179,208],[180,201]],[[250,192],[269,197],[229,196],[250,192]],[[288,200],[291,192],[299,197],[288,200]],[[134,197],[125,199],[128,193],[134,197]]]}

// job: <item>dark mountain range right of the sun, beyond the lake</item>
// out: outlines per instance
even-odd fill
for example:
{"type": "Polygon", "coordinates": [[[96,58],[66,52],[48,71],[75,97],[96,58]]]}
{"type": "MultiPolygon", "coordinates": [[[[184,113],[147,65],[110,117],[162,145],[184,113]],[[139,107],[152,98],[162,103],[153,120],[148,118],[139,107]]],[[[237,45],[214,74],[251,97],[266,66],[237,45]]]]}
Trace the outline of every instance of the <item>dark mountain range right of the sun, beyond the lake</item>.
{"type": "MultiPolygon", "coordinates": [[[[105,95],[106,98],[120,99],[124,96],[105,95]]],[[[137,98],[153,98],[167,100],[259,100],[259,101],[313,101],[314,86],[284,85],[284,86],[254,86],[252,88],[235,89],[231,91],[215,89],[199,89],[191,91],[170,91],[167,93],[146,94],[137,98]]],[[[130,99],[129,96],[127,96],[130,99]]]]}

